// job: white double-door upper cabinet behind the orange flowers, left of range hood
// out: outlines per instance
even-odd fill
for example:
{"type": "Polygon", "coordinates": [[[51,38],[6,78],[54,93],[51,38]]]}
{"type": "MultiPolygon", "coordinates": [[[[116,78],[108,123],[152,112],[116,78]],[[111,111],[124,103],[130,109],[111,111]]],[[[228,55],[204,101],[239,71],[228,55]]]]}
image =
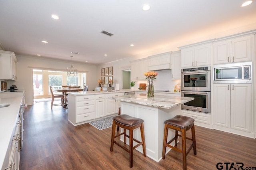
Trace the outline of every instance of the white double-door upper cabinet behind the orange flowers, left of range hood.
{"type": "Polygon", "coordinates": [[[149,65],[150,59],[148,58],[131,61],[131,80],[145,80],[144,72],[148,71],[149,65]]]}

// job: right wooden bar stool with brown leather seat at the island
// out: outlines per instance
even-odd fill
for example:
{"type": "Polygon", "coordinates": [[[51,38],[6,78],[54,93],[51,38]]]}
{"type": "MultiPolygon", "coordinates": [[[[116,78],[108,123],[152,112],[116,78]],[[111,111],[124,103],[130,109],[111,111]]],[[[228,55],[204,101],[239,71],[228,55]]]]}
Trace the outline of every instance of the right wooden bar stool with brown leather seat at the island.
{"type": "Polygon", "coordinates": [[[166,146],[181,152],[183,154],[183,169],[187,169],[187,155],[190,152],[190,150],[194,149],[194,155],[196,155],[196,134],[195,134],[195,127],[194,127],[194,119],[186,116],[177,115],[172,119],[168,119],[164,122],[164,144],[163,144],[163,152],[162,152],[162,159],[165,158],[166,153],[166,146]],[[169,142],[167,142],[168,137],[168,129],[174,129],[175,130],[175,137],[172,138],[169,142]],[[191,128],[192,132],[192,139],[186,137],[186,131],[191,128]],[[181,132],[181,135],[178,134],[178,132],[181,132]],[[178,136],[182,137],[182,150],[178,149],[177,146],[177,140],[178,136]],[[175,139],[175,146],[171,146],[170,143],[175,139]],[[186,150],[186,139],[192,140],[192,144],[188,148],[188,151],[186,150]]]}

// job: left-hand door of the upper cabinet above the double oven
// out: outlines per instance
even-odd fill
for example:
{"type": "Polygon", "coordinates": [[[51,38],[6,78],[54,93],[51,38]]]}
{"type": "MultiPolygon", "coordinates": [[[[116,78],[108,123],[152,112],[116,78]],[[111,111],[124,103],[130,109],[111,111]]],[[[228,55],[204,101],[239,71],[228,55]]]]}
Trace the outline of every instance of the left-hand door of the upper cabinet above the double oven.
{"type": "Polygon", "coordinates": [[[195,65],[195,48],[181,50],[181,67],[192,67],[195,65]]]}

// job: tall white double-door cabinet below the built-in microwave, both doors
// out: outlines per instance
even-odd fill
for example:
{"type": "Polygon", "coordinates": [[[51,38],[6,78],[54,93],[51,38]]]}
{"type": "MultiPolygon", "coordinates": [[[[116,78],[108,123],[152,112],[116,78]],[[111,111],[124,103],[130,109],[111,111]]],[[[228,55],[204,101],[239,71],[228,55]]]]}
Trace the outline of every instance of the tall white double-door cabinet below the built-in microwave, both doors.
{"type": "Polygon", "coordinates": [[[251,132],[252,84],[214,84],[213,90],[213,128],[251,132]]]}

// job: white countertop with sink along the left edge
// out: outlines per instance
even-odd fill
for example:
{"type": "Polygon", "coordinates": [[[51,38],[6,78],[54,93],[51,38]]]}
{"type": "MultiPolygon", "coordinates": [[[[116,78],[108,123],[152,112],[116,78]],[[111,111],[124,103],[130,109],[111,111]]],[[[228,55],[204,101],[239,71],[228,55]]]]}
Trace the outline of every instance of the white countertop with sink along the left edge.
{"type": "MultiPolygon", "coordinates": [[[[13,93],[13,92],[12,92],[13,93]]],[[[10,106],[0,108],[0,169],[4,163],[6,152],[8,151],[9,144],[12,141],[14,128],[16,127],[16,120],[20,113],[20,105],[22,97],[0,98],[0,103],[8,103],[10,106]]]]}

